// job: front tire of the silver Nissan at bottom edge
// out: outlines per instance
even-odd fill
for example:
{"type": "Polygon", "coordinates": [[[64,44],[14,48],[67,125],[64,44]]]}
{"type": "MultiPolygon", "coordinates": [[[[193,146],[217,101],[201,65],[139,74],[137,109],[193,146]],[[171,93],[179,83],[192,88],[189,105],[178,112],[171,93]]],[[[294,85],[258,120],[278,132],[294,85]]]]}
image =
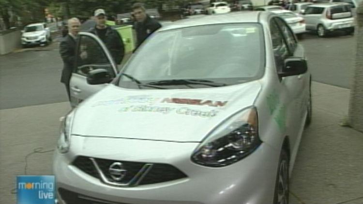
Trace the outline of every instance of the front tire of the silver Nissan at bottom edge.
{"type": "Polygon", "coordinates": [[[288,204],[288,195],[289,195],[288,169],[289,169],[289,160],[288,160],[287,151],[285,149],[282,149],[277,169],[273,204],[288,204]]]}

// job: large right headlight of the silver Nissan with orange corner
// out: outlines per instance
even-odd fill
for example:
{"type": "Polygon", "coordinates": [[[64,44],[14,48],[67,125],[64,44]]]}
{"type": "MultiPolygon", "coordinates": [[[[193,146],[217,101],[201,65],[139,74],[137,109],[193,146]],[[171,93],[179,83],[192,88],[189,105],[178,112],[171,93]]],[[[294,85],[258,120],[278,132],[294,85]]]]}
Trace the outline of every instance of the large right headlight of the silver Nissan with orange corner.
{"type": "Polygon", "coordinates": [[[242,160],[260,144],[257,110],[250,107],[214,129],[197,147],[192,161],[203,166],[223,167],[242,160]]]}

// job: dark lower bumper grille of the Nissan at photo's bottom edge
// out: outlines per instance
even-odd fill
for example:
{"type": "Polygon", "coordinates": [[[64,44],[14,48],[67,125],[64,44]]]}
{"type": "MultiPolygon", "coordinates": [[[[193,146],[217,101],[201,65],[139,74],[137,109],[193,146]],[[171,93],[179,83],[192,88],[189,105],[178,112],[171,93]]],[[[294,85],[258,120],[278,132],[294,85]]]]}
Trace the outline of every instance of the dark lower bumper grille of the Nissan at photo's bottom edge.
{"type": "Polygon", "coordinates": [[[61,199],[66,204],[126,204],[126,203],[115,203],[112,201],[101,200],[90,196],[78,194],[76,192],[67,189],[58,189],[61,199]]]}

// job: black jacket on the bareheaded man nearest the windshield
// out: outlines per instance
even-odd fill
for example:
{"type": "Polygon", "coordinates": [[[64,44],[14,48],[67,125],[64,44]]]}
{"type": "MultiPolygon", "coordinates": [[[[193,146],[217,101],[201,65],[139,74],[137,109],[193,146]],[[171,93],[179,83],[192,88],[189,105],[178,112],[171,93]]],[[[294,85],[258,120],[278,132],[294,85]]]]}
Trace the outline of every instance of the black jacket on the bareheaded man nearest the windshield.
{"type": "Polygon", "coordinates": [[[145,41],[149,35],[151,35],[155,30],[160,29],[161,25],[160,23],[151,18],[149,15],[146,17],[144,22],[136,22],[134,25],[134,29],[136,30],[136,36],[137,36],[137,46],[140,46],[142,42],[145,41]]]}

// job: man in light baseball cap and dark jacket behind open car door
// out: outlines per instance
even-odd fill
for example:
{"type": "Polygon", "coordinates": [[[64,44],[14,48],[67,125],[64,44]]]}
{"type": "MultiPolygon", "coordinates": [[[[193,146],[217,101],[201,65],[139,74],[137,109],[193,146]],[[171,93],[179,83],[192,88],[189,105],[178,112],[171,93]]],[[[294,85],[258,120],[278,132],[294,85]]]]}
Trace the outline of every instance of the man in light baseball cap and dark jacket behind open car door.
{"type": "Polygon", "coordinates": [[[103,9],[97,9],[94,12],[96,26],[90,30],[91,33],[97,35],[102,42],[105,43],[110,51],[112,58],[117,64],[121,64],[125,55],[125,48],[122,37],[116,30],[106,25],[106,12],[103,9]]]}

